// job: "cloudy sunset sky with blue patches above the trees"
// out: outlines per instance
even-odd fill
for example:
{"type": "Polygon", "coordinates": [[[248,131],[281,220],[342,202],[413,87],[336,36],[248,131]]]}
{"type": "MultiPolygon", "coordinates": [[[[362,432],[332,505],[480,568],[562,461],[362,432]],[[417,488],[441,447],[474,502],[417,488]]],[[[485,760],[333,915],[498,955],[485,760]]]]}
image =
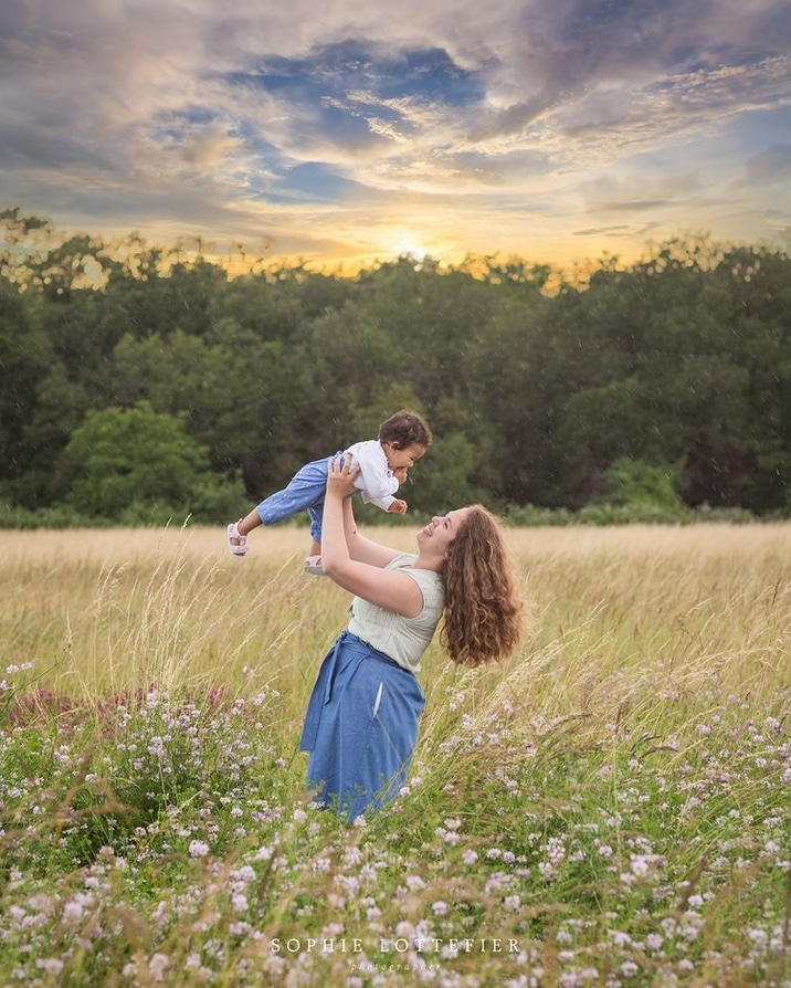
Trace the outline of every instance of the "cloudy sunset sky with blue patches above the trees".
{"type": "Polygon", "coordinates": [[[791,246],[790,0],[2,0],[0,209],[354,271],[791,246]]]}

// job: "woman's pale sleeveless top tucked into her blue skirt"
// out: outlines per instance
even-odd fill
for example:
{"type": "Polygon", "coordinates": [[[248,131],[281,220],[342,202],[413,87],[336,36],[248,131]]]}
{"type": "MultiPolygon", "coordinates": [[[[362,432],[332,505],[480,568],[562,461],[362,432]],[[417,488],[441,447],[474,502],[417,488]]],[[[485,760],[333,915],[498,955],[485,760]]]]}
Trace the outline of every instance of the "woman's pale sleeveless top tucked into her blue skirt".
{"type": "Polygon", "coordinates": [[[414,673],[420,672],[420,661],[431,644],[445,603],[440,574],[412,569],[416,558],[403,553],[384,567],[405,572],[420,587],[423,609],[416,618],[386,611],[361,597],[355,597],[349,607],[349,631],[414,673]]]}

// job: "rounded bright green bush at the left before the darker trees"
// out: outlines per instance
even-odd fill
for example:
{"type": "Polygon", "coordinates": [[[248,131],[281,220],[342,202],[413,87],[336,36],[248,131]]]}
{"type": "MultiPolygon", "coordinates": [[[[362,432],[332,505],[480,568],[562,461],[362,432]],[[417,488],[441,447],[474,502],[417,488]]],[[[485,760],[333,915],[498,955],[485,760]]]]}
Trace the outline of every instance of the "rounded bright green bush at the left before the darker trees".
{"type": "Polygon", "coordinates": [[[63,466],[71,477],[67,505],[127,524],[191,513],[198,521],[217,519],[240,494],[225,495],[182,418],[155,412],[146,400],[88,412],[72,433],[63,466]]]}

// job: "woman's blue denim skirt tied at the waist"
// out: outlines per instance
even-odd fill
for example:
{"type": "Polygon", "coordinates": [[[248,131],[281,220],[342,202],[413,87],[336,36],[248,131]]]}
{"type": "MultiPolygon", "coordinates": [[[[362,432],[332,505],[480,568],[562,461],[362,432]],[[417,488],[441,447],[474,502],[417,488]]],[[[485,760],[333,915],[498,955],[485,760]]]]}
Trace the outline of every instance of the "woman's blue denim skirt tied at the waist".
{"type": "Polygon", "coordinates": [[[299,743],[316,802],[351,822],[398,796],[424,706],[413,673],[345,631],[321,663],[299,743]]]}

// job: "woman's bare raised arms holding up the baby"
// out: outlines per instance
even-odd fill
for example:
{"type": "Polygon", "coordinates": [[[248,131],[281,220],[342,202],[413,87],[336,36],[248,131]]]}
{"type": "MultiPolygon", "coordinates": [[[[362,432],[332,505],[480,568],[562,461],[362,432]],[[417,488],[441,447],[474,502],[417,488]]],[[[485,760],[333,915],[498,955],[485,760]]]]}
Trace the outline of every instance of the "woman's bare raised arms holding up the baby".
{"type": "Polygon", "coordinates": [[[423,595],[407,574],[382,569],[400,555],[363,538],[355,525],[349,494],[355,471],[339,459],[329,462],[327,496],[321,523],[321,568],[339,587],[384,610],[415,618],[423,609],[423,595]]]}

